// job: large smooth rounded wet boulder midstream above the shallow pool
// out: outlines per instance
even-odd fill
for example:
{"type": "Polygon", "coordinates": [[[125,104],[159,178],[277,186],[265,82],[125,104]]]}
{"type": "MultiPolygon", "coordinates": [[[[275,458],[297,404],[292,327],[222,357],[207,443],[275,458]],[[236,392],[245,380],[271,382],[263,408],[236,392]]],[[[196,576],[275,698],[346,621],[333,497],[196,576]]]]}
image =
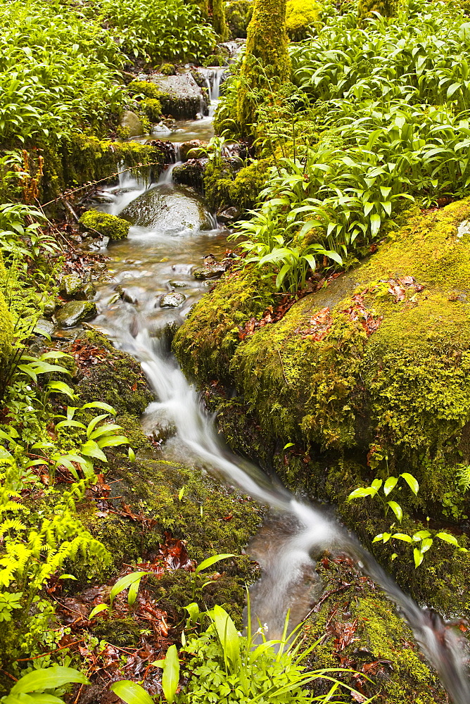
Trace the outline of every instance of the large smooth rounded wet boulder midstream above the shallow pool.
{"type": "Polygon", "coordinates": [[[151,189],[122,210],[122,218],[133,225],[160,232],[184,229],[208,230],[212,216],[204,203],[189,189],[151,189]]]}

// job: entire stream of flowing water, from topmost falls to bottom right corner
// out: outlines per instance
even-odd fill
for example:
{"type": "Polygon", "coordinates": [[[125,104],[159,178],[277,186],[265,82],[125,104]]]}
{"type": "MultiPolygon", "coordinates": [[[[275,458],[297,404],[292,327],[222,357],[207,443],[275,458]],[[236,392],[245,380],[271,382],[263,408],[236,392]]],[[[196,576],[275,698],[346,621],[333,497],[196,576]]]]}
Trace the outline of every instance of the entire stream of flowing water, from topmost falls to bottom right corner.
{"type": "MultiPolygon", "coordinates": [[[[218,98],[220,74],[216,70],[217,80],[211,83],[211,113],[218,98]]],[[[174,142],[203,134],[208,138],[210,120],[180,122],[169,138],[174,142]]],[[[166,455],[217,474],[271,508],[272,518],[250,548],[262,567],[262,578],[252,589],[253,612],[269,624],[269,636],[272,631],[279,632],[288,608],[299,621],[319,597],[315,558],[325,549],[348,555],[395,603],[455,704],[469,704],[466,650],[457,632],[405,595],[333,513],[298,501],[276,479],[233,455],[172,356],[167,330],[181,325],[193,303],[212,285],[196,281],[191,268],[201,265],[204,256],[221,258],[227,247],[227,230],[217,227],[191,189],[172,183],[171,167],[156,184],[122,177],[118,187],[107,188],[101,195],[108,201],[101,208],[114,215],[126,212],[135,224],[127,240],[108,250],[113,282],[99,287],[99,317],[94,325],[140,361],[155,393],[155,401],[142,419],[144,429],[148,434],[163,425],[174,430],[164,447],[166,455]],[[118,298],[117,284],[125,300],[118,298]],[[172,292],[182,294],[179,307],[162,307],[162,297],[172,292]]]]}

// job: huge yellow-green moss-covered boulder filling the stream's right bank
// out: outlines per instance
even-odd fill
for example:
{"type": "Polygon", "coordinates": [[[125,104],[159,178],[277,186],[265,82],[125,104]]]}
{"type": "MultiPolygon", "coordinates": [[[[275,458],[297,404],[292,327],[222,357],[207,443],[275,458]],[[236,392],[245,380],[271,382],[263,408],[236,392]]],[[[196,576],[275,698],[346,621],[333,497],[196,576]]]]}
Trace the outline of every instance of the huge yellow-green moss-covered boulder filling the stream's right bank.
{"type": "Polygon", "coordinates": [[[371,543],[395,517],[378,500],[348,502],[348,494],[375,477],[410,472],[419,492],[405,485],[398,495],[400,530],[444,529],[467,546],[469,218],[470,199],[408,213],[369,260],[301,298],[274,325],[249,322],[270,315],[269,279],[262,293],[256,272],[236,270],[174,340],[187,372],[236,387],[238,397],[220,401],[234,447],[250,437],[251,453],[258,447],[288,484],[336,503],[402,586],[449,614],[470,613],[468,553],[435,541],[415,570],[412,546],[371,543]],[[253,313],[248,291],[264,310],[253,313]],[[287,442],[295,446],[284,452],[287,442]]]}

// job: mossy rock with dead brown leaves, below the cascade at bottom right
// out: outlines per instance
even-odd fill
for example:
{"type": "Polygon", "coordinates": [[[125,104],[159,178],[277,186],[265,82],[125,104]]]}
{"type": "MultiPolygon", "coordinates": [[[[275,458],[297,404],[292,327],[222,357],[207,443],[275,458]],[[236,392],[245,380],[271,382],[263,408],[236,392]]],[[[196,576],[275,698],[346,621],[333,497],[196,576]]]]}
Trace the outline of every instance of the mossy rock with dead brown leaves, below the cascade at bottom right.
{"type": "MultiPolygon", "coordinates": [[[[349,560],[325,556],[318,567],[324,596],[303,627],[306,644],[319,640],[308,665],[363,673],[362,677],[331,674],[355,689],[359,684],[365,697],[375,696],[383,704],[446,703],[436,673],[386,596],[349,560]]],[[[318,695],[331,685],[317,681],[313,686],[318,695]]]]}

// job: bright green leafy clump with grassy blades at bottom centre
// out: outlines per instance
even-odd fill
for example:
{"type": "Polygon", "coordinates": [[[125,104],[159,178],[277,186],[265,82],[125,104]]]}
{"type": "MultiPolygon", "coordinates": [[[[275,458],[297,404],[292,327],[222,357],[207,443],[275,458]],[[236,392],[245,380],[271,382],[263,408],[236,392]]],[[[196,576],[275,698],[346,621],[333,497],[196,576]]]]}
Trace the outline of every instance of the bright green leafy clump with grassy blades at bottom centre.
{"type": "MultiPolygon", "coordinates": [[[[176,646],[167,650],[165,660],[153,663],[163,667],[163,692],[170,704],[174,701],[179,704],[251,704],[258,701],[321,704],[334,702],[334,693],[338,696],[344,690],[355,694],[350,686],[334,677],[335,673],[341,672],[339,668],[306,670],[303,660],[315,650],[317,643],[300,653],[298,639],[292,639],[293,634],[287,635],[288,616],[281,638],[267,641],[264,627],[253,636],[248,627],[247,636],[241,636],[229,614],[218,605],[205,613],[198,613],[195,603],[187,609],[189,624],[203,618],[210,624],[200,635],[191,633],[187,640],[183,634],[180,652],[189,653],[191,658],[183,673],[189,681],[179,694],[180,663],[176,646]],[[315,696],[305,689],[306,685],[320,681],[324,681],[329,689],[323,695],[315,696]]],[[[127,704],[151,704],[146,691],[135,682],[120,681],[111,689],[127,704]]]]}

